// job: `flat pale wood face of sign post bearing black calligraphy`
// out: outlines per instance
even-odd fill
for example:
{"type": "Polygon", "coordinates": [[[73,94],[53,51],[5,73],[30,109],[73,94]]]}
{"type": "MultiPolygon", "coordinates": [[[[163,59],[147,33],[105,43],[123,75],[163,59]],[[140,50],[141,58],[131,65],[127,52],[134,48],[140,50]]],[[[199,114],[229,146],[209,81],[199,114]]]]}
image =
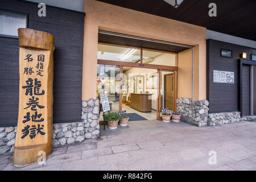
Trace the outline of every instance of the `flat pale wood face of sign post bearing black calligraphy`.
{"type": "Polygon", "coordinates": [[[17,137],[23,145],[47,141],[47,79],[49,51],[20,48],[20,92],[17,137]]]}

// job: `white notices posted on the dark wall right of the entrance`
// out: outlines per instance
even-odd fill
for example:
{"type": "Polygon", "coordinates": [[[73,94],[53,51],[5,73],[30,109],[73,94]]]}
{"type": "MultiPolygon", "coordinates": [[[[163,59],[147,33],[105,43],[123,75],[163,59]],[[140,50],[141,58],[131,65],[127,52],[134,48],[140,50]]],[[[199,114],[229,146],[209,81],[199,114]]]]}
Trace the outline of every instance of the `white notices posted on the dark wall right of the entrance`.
{"type": "Polygon", "coordinates": [[[213,70],[213,82],[224,83],[224,84],[234,84],[234,72],[213,70]]]}

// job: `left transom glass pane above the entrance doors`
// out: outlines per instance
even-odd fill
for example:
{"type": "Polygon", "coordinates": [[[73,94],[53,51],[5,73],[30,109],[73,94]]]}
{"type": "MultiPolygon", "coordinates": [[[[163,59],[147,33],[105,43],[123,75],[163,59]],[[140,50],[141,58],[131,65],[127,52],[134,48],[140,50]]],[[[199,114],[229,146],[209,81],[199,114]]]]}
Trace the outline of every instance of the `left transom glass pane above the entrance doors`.
{"type": "Polygon", "coordinates": [[[141,59],[141,50],[98,44],[98,59],[138,63],[141,59]]]}

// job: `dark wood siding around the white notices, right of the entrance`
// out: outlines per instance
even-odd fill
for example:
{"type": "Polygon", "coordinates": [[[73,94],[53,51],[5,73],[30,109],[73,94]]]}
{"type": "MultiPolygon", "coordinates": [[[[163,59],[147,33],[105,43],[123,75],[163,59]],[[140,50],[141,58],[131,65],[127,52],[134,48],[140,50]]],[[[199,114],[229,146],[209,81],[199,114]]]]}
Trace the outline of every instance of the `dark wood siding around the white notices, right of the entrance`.
{"type": "Polygon", "coordinates": [[[240,109],[238,104],[238,94],[240,94],[238,63],[242,52],[247,52],[247,59],[250,59],[251,53],[256,53],[256,49],[217,40],[207,40],[207,100],[210,113],[240,109]],[[232,50],[233,57],[221,57],[221,48],[232,50]],[[214,83],[213,70],[234,72],[234,84],[214,83]]]}

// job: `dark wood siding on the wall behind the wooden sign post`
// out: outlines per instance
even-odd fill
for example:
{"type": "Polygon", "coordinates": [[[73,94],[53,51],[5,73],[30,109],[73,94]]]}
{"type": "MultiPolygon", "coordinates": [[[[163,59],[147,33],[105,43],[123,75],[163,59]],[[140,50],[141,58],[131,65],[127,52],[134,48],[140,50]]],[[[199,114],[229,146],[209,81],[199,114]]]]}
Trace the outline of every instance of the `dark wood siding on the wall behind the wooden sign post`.
{"type": "MultiPolygon", "coordinates": [[[[81,120],[82,51],[84,13],[46,7],[38,16],[38,4],[4,0],[0,9],[28,14],[28,28],[55,36],[53,122],[81,120]]],[[[19,42],[0,37],[0,126],[14,126],[19,103],[19,42]]]]}

